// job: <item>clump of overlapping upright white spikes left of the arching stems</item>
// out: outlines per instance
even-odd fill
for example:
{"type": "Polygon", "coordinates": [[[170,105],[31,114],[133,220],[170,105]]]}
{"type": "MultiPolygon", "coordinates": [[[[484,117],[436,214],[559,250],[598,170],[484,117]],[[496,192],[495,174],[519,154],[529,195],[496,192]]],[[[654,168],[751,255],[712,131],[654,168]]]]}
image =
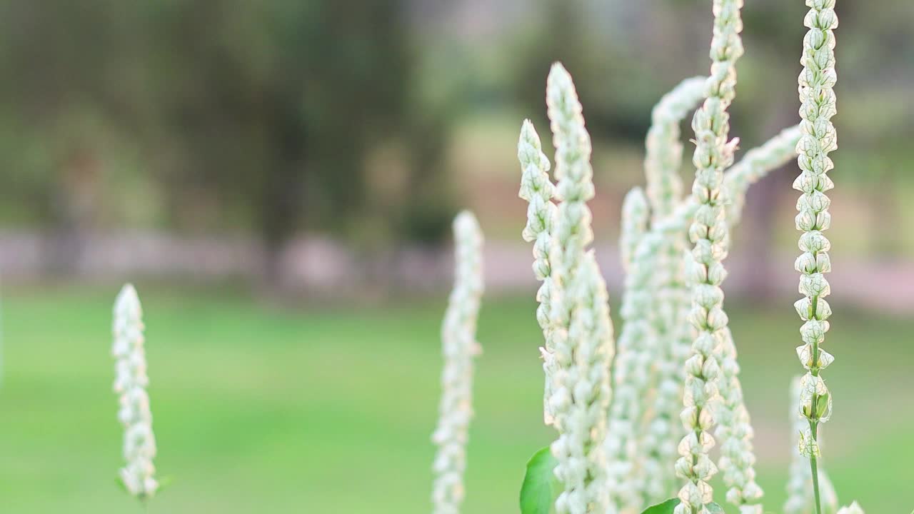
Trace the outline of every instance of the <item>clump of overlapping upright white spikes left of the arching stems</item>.
{"type": "Polygon", "coordinates": [[[558,461],[556,477],[564,485],[555,507],[558,514],[605,514],[611,512],[603,442],[614,343],[606,284],[589,250],[590,134],[574,83],[561,64],[549,71],[546,96],[556,147],[555,187],[530,123],[524,123],[518,158],[520,196],[529,202],[524,238],[534,241],[534,273],[543,281],[537,319],[547,340],[546,416],[558,430],[551,450],[558,461]]]}

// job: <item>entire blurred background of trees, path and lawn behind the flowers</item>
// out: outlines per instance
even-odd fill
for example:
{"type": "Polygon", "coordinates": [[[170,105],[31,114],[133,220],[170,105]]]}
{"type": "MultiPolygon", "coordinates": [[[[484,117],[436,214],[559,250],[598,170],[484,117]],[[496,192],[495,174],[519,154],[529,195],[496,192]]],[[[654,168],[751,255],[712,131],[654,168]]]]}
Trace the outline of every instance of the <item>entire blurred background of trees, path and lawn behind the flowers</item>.
{"type": "MultiPolygon", "coordinates": [[[[621,200],[643,185],[654,103],[707,74],[709,4],[0,2],[0,510],[140,511],[114,484],[108,356],[130,280],[157,462],[174,477],[151,512],[428,511],[450,223],[473,209],[489,293],[465,510],[517,511],[526,458],[553,436],[519,235],[520,123],[547,134],[561,60],[594,140],[596,248],[618,311],[621,200]]],[[[743,151],[799,121],[807,9],[746,4],[731,109],[743,151]]],[[[914,4],[878,4],[837,6],[824,466],[844,502],[909,512],[914,4]]],[[[750,190],[725,287],[770,510],[801,370],[796,174],[750,190]]]]}

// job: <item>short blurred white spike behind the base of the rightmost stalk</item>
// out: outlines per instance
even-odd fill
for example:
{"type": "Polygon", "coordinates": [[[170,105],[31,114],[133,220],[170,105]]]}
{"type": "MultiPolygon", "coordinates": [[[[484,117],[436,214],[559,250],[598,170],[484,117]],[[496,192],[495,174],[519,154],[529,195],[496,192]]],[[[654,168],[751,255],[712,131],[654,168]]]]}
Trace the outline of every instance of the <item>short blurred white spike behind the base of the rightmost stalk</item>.
{"type": "MultiPolygon", "coordinates": [[[[809,426],[806,418],[800,414],[800,377],[791,382],[792,452],[790,475],[787,481],[787,500],[784,502],[784,514],[813,514],[813,470],[809,460],[800,453],[800,434],[809,426]]],[[[822,437],[819,437],[821,444],[822,437]]],[[[822,499],[823,514],[837,514],[838,497],[832,481],[829,480],[822,466],[819,466],[819,491],[822,499]]]]}

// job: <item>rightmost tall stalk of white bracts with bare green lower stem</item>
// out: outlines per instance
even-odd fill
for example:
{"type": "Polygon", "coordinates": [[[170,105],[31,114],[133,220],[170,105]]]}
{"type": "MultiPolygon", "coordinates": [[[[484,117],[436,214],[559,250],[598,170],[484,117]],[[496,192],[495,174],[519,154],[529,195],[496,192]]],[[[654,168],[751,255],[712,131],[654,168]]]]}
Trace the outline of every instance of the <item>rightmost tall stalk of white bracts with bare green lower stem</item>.
{"type": "Polygon", "coordinates": [[[804,322],[800,329],[803,344],[797,348],[797,355],[807,370],[800,385],[800,411],[809,426],[800,436],[800,450],[802,455],[809,457],[815,511],[821,514],[818,429],[832,412],[832,396],[825,387],[821,371],[834,360],[821,348],[829,327],[827,319],[832,314],[824,300],[831,293],[824,273],[830,272],[832,267],[828,257],[831,243],[823,233],[831,225],[830,200],[824,193],[834,187],[827,173],[834,168],[828,154],[837,148],[837,134],[831,119],[836,112],[834,28],[838,26],[838,18],[834,15],[834,0],[806,0],[806,5],[810,10],[803,23],[809,31],[803,37],[803,69],[798,79],[802,137],[797,144],[797,162],[801,174],[793,182],[793,187],[802,192],[797,200],[800,212],[796,217],[796,228],[803,232],[800,237],[802,255],[795,268],[802,273],[799,291],[803,298],[794,306],[804,322]]]}

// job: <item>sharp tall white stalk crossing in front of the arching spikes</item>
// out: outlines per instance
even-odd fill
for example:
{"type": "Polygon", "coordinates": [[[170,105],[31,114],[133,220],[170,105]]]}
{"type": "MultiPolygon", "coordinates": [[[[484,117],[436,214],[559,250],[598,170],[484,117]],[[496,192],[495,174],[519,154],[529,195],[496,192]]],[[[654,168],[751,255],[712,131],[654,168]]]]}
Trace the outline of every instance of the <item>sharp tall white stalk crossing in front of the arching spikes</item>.
{"type": "Polygon", "coordinates": [[[675,470],[685,478],[679,490],[681,503],[676,514],[706,514],[713,501],[709,480],[717,466],[708,455],[714,446],[710,429],[715,420],[713,409],[718,402],[720,367],[718,356],[724,343],[728,318],[723,310],[724,293],[720,288],[726,277],[722,261],[727,255],[728,226],[723,194],[724,169],[733,163],[738,140],[728,140],[727,109],[736,97],[736,62],[742,55],[739,32],[742,0],[714,0],[714,37],[711,39],[711,73],[707,80],[706,100],[692,119],[696,166],[692,195],[698,209],[689,228],[695,243],[695,260],[691,273],[694,282],[690,321],[696,329],[692,357],[685,362],[685,392],[682,421],[688,434],[679,444],[675,470]]]}

